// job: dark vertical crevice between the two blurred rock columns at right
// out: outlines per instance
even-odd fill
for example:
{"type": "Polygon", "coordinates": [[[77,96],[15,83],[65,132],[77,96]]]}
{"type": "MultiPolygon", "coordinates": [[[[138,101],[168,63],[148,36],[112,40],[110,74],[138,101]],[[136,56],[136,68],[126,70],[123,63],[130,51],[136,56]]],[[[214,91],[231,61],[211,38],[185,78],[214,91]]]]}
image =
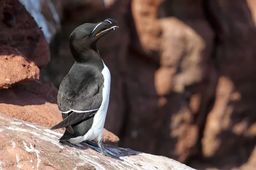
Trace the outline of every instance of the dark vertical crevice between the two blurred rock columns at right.
{"type": "Polygon", "coordinates": [[[212,51],[210,54],[209,61],[207,63],[207,68],[211,68],[215,72],[215,74],[217,74],[217,76],[215,77],[215,79],[210,78],[211,73],[208,69],[208,73],[206,74],[205,80],[204,82],[202,82],[204,86],[204,90],[201,91],[202,93],[201,105],[194,119],[194,124],[198,125],[198,142],[195,146],[197,151],[195,152],[195,154],[189,156],[189,158],[186,160],[186,164],[188,165],[195,162],[195,160],[204,161],[204,162],[206,161],[203,156],[202,139],[204,137],[207,117],[209,113],[212,111],[212,108],[215,104],[215,99],[216,99],[216,87],[218,84],[218,77],[219,77],[219,71],[220,71],[217,55],[218,55],[218,47],[224,41],[223,39],[224,36],[222,36],[224,31],[221,28],[220,21],[212,14],[213,5],[217,6],[218,4],[213,2],[212,0],[204,0],[202,4],[202,8],[204,9],[206,20],[209,26],[212,28],[212,31],[214,32],[212,51]],[[212,94],[209,95],[209,93],[211,92],[209,92],[207,89],[212,88],[210,86],[214,87],[214,91],[212,92],[212,94]]]}

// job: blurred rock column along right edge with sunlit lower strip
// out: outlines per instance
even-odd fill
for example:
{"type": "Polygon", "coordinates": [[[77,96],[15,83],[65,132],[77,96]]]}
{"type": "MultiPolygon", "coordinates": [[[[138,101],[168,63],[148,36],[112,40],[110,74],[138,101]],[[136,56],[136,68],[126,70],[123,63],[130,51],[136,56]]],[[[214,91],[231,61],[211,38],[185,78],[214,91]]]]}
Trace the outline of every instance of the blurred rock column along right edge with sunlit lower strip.
{"type": "Polygon", "coordinates": [[[212,19],[218,21],[216,61],[221,76],[207,117],[202,152],[218,164],[239,167],[256,143],[256,82],[252,81],[256,73],[256,27],[246,1],[209,1],[208,5],[212,19]]]}

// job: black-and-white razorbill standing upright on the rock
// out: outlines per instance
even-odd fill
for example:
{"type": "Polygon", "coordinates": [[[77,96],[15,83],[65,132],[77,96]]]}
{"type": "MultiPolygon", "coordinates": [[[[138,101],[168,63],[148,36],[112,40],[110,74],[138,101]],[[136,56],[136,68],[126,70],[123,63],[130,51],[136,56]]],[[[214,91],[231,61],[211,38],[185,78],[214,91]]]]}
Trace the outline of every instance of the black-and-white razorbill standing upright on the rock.
{"type": "Polygon", "coordinates": [[[102,144],[102,131],[108,110],[110,72],[96,47],[103,35],[119,28],[107,19],[100,23],[85,23],[70,35],[70,51],[75,63],[58,90],[60,123],[51,130],[66,127],[59,139],[72,144],[96,141],[102,154],[108,155],[102,144]]]}

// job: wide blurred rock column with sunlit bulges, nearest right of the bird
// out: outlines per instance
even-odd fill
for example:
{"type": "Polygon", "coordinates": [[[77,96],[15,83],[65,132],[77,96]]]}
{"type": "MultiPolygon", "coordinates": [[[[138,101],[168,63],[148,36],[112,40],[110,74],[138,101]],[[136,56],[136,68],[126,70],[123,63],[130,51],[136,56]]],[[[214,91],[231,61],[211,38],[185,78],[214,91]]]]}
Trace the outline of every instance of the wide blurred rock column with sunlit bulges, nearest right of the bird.
{"type": "Polygon", "coordinates": [[[190,100],[201,96],[198,85],[204,82],[213,40],[202,3],[132,1],[136,30],[126,62],[129,110],[120,146],[182,162],[195,153],[201,126],[190,100]],[[171,8],[177,12],[170,13],[171,8]]]}

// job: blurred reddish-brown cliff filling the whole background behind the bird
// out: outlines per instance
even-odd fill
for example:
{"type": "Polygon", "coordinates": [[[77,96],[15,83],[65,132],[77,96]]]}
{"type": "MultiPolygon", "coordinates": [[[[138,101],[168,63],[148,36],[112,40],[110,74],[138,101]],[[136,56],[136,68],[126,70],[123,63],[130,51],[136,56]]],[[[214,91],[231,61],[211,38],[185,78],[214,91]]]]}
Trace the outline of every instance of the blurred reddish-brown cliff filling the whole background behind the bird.
{"type": "Polygon", "coordinates": [[[58,122],[56,88],[74,62],[70,33],[83,23],[114,18],[119,29],[102,37],[98,48],[111,71],[105,128],[119,137],[119,146],[198,170],[255,169],[255,0],[40,2],[48,39],[19,1],[0,0],[0,75],[2,63],[16,69],[19,52],[29,60],[17,66],[26,76],[8,71],[0,77],[0,86],[8,88],[0,90],[1,112],[58,122]],[[38,68],[41,78],[34,80],[38,68]]]}

